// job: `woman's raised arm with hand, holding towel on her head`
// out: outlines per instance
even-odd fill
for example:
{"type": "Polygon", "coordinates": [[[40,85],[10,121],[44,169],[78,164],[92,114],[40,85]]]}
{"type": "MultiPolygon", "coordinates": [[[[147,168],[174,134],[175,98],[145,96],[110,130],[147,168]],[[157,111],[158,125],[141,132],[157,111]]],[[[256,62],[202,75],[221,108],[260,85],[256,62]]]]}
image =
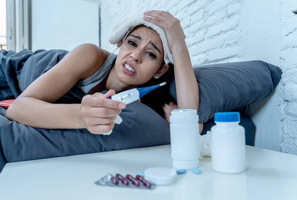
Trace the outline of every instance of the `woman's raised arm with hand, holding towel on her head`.
{"type": "MultiPolygon", "coordinates": [[[[174,73],[178,108],[196,109],[199,111],[199,87],[191,64],[189,51],[185,42],[185,35],[180,21],[169,12],[148,11],[144,13],[154,18],[145,17],[165,30],[168,45],[174,61],[174,73]]],[[[199,132],[203,125],[199,124],[199,132]]]]}

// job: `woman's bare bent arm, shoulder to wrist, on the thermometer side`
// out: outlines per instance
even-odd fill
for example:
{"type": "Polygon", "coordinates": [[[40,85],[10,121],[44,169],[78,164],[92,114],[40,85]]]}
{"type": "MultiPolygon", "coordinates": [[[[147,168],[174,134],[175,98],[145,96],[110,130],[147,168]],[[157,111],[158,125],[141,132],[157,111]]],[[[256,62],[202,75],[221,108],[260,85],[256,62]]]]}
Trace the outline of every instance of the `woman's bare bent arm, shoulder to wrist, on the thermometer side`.
{"type": "Polygon", "coordinates": [[[67,93],[78,80],[86,78],[86,74],[94,73],[106,58],[105,54],[92,44],[76,47],[29,85],[9,106],[6,117],[35,128],[85,128],[78,116],[80,104],[52,102],[67,93]]]}

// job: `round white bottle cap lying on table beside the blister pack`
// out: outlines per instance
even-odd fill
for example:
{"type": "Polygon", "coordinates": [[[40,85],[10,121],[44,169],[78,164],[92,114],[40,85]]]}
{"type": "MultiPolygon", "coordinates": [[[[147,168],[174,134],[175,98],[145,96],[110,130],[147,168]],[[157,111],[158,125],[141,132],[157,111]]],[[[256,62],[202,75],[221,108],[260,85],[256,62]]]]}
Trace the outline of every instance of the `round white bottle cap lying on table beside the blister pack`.
{"type": "Polygon", "coordinates": [[[169,185],[177,180],[176,170],[167,167],[153,167],[145,171],[145,179],[156,185],[169,185]]]}

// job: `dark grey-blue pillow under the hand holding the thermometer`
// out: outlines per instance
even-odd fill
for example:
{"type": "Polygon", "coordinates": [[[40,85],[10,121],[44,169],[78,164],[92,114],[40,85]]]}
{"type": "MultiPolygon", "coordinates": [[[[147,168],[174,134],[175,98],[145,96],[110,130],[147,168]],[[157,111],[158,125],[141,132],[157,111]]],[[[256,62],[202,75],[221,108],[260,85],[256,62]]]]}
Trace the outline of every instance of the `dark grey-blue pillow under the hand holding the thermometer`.
{"type": "Polygon", "coordinates": [[[36,129],[9,121],[5,113],[0,108],[0,172],[6,162],[170,143],[169,124],[138,101],[122,111],[123,122],[110,135],[92,134],[87,129],[36,129]]]}

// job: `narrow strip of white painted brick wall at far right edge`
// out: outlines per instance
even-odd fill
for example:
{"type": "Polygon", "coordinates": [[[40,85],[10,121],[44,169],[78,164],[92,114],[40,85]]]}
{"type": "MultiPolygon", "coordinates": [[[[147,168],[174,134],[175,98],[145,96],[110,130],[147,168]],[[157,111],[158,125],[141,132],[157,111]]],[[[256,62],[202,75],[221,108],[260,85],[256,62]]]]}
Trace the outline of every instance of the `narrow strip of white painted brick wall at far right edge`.
{"type": "Polygon", "coordinates": [[[297,154],[297,0],[281,0],[281,151],[297,154]]]}

